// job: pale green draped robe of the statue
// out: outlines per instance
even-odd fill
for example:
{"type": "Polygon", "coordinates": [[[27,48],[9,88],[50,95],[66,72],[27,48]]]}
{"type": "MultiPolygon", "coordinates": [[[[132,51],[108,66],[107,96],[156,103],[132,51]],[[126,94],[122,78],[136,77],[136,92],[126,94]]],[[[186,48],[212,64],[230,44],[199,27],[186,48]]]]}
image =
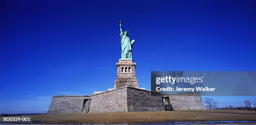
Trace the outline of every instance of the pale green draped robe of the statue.
{"type": "Polygon", "coordinates": [[[122,47],[121,58],[132,59],[132,46],[134,42],[131,42],[130,38],[123,33],[120,33],[120,37],[122,47]]]}

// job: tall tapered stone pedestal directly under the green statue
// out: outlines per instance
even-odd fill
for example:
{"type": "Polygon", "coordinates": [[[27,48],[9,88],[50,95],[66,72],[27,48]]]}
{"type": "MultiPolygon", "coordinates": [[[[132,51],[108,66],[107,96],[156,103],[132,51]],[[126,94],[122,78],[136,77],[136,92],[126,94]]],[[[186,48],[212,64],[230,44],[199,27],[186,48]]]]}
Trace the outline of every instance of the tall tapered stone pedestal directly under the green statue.
{"type": "Polygon", "coordinates": [[[115,89],[124,86],[139,88],[138,79],[136,78],[135,73],[136,63],[133,60],[120,59],[119,62],[116,63],[116,67],[117,76],[115,79],[115,89]]]}

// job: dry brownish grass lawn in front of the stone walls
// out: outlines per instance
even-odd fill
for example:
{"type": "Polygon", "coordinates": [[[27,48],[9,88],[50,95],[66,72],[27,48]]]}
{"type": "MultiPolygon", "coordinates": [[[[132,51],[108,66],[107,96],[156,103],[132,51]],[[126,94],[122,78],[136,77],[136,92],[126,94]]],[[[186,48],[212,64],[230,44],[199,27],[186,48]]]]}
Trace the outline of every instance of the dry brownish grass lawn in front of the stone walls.
{"type": "Polygon", "coordinates": [[[167,121],[256,121],[256,111],[248,110],[184,110],[123,113],[72,113],[61,115],[32,115],[33,121],[43,123],[140,123],[167,121]]]}

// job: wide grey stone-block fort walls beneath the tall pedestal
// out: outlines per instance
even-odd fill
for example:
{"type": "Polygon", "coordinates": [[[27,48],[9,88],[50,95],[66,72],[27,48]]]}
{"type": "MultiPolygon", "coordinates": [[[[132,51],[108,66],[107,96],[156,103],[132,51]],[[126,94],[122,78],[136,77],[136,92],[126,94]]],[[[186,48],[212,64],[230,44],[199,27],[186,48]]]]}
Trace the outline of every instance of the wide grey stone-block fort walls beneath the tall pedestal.
{"type": "Polygon", "coordinates": [[[164,111],[165,104],[173,110],[205,109],[200,93],[152,93],[125,86],[91,96],[53,96],[47,114],[164,111]]]}

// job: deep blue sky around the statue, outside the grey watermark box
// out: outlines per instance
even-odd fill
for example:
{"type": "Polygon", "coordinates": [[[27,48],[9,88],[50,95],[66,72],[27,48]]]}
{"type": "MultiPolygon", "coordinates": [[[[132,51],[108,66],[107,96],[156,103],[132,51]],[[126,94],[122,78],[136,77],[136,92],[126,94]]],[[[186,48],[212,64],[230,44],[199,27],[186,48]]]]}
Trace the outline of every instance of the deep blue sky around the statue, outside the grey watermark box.
{"type": "Polygon", "coordinates": [[[151,71],[256,71],[255,0],[1,0],[0,113],[46,113],[53,95],[113,88],[120,20],[147,90],[151,71]]]}

